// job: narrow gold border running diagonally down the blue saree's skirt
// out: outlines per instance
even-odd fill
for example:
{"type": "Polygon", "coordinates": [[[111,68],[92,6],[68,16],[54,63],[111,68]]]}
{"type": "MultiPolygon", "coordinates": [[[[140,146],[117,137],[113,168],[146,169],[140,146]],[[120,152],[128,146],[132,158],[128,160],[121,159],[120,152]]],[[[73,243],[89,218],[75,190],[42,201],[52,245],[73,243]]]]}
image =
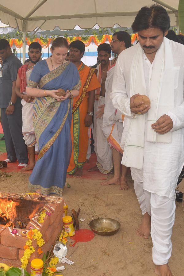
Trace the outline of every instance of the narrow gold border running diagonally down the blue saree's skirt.
{"type": "Polygon", "coordinates": [[[47,144],[44,145],[44,147],[40,150],[40,153],[38,155],[38,159],[41,159],[44,154],[48,151],[48,149],[52,146],[52,144],[55,142],[56,138],[59,136],[59,133],[61,132],[65,122],[66,122],[66,119],[68,117],[68,113],[69,113],[69,110],[70,110],[70,104],[71,102],[69,101],[68,102],[68,109],[67,109],[67,113],[65,114],[64,118],[63,118],[63,122],[62,124],[60,125],[60,127],[58,128],[58,130],[56,131],[56,133],[52,136],[52,138],[47,142],[47,144]]]}

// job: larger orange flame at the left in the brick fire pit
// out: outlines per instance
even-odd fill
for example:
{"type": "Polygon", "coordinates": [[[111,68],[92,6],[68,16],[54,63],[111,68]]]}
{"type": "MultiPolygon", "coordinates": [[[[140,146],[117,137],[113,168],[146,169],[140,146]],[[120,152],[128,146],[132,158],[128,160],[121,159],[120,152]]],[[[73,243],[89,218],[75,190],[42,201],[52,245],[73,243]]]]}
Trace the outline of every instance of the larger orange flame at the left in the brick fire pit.
{"type": "Polygon", "coordinates": [[[19,205],[18,202],[13,200],[8,200],[8,198],[0,198],[0,218],[8,222],[5,227],[11,226],[14,227],[13,220],[17,217],[16,206],[19,205]]]}

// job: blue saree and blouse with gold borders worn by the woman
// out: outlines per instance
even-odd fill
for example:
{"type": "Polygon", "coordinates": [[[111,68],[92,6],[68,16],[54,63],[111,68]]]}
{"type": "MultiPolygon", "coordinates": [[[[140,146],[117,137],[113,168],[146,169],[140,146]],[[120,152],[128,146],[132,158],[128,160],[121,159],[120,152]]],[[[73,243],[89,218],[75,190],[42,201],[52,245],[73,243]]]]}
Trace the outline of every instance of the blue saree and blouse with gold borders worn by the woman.
{"type": "MultiPolygon", "coordinates": [[[[77,67],[67,62],[49,71],[47,62],[42,60],[34,66],[27,87],[37,85],[43,90],[79,90],[77,67]]],[[[71,109],[69,98],[63,102],[52,97],[35,98],[33,124],[40,153],[29,178],[30,190],[62,195],[71,156],[71,109]]]]}

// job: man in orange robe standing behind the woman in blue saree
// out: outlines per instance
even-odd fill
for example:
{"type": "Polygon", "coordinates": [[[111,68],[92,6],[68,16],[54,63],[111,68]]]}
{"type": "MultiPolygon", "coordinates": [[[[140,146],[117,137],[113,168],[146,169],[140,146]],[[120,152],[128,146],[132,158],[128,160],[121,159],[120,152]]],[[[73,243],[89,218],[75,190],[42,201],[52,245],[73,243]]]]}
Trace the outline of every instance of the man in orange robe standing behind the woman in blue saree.
{"type": "Polygon", "coordinates": [[[73,99],[71,121],[72,153],[67,173],[81,177],[88,149],[88,128],[92,124],[94,90],[101,85],[97,79],[96,69],[90,68],[81,62],[85,52],[84,43],[79,40],[73,41],[69,49],[70,60],[79,71],[81,88],[79,96],[73,99]]]}

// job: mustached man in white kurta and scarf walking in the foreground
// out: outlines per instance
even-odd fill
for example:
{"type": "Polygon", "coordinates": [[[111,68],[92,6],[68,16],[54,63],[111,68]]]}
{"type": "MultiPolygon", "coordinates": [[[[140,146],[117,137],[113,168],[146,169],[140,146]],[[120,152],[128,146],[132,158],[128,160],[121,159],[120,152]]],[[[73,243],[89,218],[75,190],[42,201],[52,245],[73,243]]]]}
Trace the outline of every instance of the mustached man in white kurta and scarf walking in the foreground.
{"type": "Polygon", "coordinates": [[[132,24],[139,43],[121,52],[116,62],[111,99],[125,115],[122,164],[132,179],[142,224],[137,235],[151,238],[155,273],[171,276],[171,234],[175,188],[184,164],[184,46],[165,38],[167,11],[144,7],[132,24]],[[147,95],[151,104],[134,102],[147,95]],[[143,104],[143,105],[141,105],[143,104]]]}

